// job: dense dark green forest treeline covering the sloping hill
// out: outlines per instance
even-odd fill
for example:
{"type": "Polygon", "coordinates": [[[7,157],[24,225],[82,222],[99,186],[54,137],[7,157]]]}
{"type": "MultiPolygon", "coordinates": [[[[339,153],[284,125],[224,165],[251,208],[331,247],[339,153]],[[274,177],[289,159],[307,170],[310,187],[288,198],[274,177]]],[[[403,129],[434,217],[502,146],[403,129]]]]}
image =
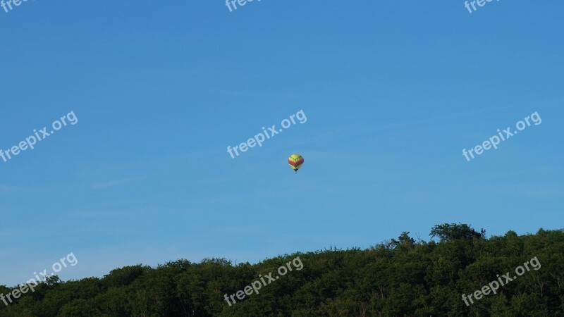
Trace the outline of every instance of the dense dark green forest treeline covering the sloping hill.
{"type": "MultiPolygon", "coordinates": [[[[49,278],[0,316],[564,316],[564,232],[486,238],[464,224],[436,225],[434,240],[397,239],[369,249],[326,249],[260,263],[178,260],[152,268],[126,266],[104,278],[61,282],[49,278]],[[237,294],[296,257],[303,263],[259,294],[229,306],[237,294]],[[531,269],[465,304],[462,294],[482,290],[537,257],[531,269]]],[[[0,286],[0,294],[12,287],[0,286]]],[[[236,299],[237,297],[235,297],[236,299]]]]}

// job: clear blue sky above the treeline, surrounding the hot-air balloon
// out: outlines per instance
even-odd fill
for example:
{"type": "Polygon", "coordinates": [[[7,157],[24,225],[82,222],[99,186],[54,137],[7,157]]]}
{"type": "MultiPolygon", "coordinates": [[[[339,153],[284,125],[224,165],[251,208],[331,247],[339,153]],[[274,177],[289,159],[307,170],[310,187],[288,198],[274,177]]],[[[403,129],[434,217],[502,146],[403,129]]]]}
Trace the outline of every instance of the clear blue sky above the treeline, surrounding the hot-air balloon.
{"type": "Polygon", "coordinates": [[[0,8],[0,284],[562,228],[561,1],[27,1],[0,8]],[[307,123],[226,151],[303,110],[307,123]],[[532,125],[467,162],[496,130],[532,125]],[[295,175],[286,159],[299,153],[295,175]]]}

